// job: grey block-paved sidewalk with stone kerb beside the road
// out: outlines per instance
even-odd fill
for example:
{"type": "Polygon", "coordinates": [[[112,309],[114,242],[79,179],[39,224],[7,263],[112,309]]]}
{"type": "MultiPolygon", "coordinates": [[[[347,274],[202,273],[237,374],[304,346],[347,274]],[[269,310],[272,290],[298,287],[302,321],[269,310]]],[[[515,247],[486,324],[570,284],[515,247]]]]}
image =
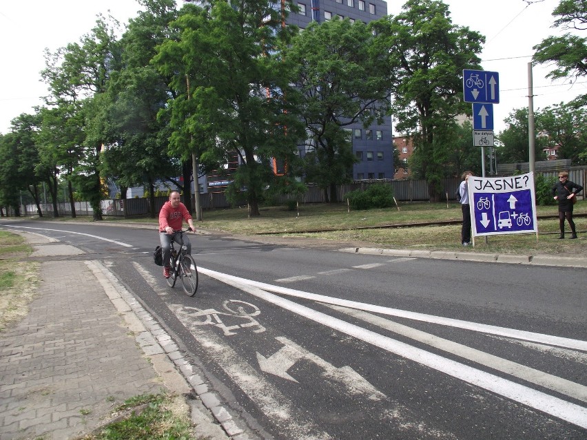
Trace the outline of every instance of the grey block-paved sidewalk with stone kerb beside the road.
{"type": "MultiPolygon", "coordinates": [[[[33,256],[82,253],[23,235],[33,256]]],[[[0,440],[75,439],[103,426],[130,397],[166,390],[187,395],[204,385],[163,328],[99,262],[42,262],[39,275],[28,316],[0,333],[0,440]]],[[[225,440],[232,428],[239,439],[234,423],[223,429],[203,399],[185,401],[199,436],[225,440]]]]}

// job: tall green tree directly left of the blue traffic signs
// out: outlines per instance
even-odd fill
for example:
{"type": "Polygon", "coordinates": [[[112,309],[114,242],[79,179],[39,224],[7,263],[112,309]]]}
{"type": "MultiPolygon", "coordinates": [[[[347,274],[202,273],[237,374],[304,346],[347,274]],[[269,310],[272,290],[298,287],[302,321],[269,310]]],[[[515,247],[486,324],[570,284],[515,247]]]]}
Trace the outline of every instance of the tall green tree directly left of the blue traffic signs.
{"type": "Polygon", "coordinates": [[[403,12],[372,22],[389,51],[391,113],[398,132],[414,139],[412,171],[440,200],[442,175],[455,117],[471,112],[462,100],[462,70],[480,68],[484,36],[454,25],[449,7],[436,0],[409,0],[403,12]]]}

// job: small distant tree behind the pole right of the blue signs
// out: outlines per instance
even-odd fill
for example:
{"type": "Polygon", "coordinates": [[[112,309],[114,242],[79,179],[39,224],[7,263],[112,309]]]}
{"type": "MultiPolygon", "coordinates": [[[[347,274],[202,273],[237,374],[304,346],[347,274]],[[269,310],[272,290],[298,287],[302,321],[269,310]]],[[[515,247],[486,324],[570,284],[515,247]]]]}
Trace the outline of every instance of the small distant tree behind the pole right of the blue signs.
{"type": "MultiPolygon", "coordinates": [[[[528,109],[514,109],[504,119],[507,128],[497,135],[501,145],[497,147],[497,158],[500,163],[525,163],[530,160],[528,147],[528,109]]],[[[544,136],[535,138],[535,158],[544,158],[544,147],[547,139],[544,136]]]]}

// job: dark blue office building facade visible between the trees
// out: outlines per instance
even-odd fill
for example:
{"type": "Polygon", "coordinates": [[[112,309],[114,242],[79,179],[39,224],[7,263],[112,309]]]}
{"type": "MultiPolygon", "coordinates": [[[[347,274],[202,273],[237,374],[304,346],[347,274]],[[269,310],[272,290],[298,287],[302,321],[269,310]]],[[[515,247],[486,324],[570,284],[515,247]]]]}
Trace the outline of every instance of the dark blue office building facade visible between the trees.
{"type": "MultiPolygon", "coordinates": [[[[311,21],[324,23],[336,16],[342,19],[369,23],[387,15],[387,2],[383,0],[299,0],[299,13],[290,13],[287,23],[306,28],[311,21]]],[[[373,124],[365,129],[361,123],[349,125],[353,140],[353,153],[358,163],[353,167],[353,179],[392,179],[393,135],[391,116],[382,125],[373,124]]],[[[303,147],[300,154],[303,156],[303,147]]]]}

